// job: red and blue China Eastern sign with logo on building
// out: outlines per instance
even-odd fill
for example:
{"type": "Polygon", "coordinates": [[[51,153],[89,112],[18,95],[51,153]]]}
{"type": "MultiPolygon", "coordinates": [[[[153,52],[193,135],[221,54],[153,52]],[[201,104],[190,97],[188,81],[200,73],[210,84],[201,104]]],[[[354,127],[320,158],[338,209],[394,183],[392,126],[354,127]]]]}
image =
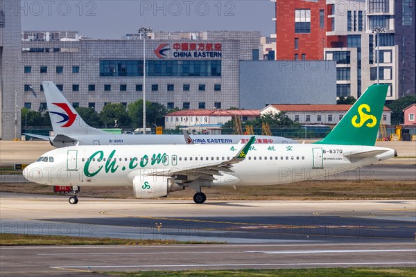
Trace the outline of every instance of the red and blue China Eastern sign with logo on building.
{"type": "Polygon", "coordinates": [[[182,42],[172,47],[171,44],[159,44],[155,54],[159,59],[164,59],[168,51],[173,52],[173,57],[223,57],[223,44],[182,42]]]}

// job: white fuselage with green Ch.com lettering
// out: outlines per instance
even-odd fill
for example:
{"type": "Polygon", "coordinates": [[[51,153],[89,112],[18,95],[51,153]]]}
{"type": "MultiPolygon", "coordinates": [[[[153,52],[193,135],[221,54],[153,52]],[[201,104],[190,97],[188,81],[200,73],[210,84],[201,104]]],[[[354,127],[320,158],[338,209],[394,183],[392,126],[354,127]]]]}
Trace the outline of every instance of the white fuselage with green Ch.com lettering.
{"type": "MultiPolygon", "coordinates": [[[[42,156],[52,157],[53,161],[48,159],[32,163],[24,170],[24,176],[35,183],[50,186],[132,186],[137,176],[227,161],[239,148],[241,145],[92,145],[59,148],[42,156]]],[[[205,184],[285,184],[339,174],[394,156],[395,150],[361,145],[252,145],[245,160],[236,163],[232,172],[223,172],[205,184]],[[352,155],[370,151],[383,153],[372,157],[352,155]]],[[[340,178],[343,176],[340,175],[340,178]]]]}

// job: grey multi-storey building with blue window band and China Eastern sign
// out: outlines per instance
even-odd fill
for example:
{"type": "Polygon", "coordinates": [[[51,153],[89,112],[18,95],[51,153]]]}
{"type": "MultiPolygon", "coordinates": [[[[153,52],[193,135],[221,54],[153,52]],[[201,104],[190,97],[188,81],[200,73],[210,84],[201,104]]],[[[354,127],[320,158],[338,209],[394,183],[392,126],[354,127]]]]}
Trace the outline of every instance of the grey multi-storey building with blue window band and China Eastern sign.
{"type": "MultiPolygon", "coordinates": [[[[260,60],[260,32],[148,33],[146,100],[172,109],[239,107],[239,62],[260,60]]],[[[51,80],[74,107],[101,111],[143,97],[144,41],[90,39],[78,32],[21,34],[22,105],[46,108],[51,80]]]]}

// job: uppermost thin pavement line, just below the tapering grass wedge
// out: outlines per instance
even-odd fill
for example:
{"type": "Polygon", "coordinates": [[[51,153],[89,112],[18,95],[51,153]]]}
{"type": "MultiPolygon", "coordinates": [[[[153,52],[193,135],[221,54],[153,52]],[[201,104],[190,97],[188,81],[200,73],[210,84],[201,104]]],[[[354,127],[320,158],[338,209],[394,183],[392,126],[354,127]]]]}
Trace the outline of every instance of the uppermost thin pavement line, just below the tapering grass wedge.
{"type": "MultiPolygon", "coordinates": [[[[385,245],[412,245],[415,246],[415,242],[367,242],[367,243],[309,243],[305,242],[302,244],[164,244],[164,245],[67,245],[64,246],[66,249],[103,249],[103,248],[200,248],[200,247],[345,247],[345,246],[385,246],[385,245]]],[[[0,249],[62,249],[62,246],[22,246],[22,247],[0,247],[0,249]]]]}

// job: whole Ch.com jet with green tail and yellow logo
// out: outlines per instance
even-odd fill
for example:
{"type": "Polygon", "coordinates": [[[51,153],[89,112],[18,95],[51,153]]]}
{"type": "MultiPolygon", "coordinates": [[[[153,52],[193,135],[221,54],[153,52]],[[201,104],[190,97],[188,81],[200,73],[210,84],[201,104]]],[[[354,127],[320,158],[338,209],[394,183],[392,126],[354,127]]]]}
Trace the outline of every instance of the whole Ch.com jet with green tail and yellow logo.
{"type": "MultiPolygon", "coordinates": [[[[338,125],[312,144],[91,145],[46,152],[24,169],[29,181],[50,186],[132,186],[135,197],[202,188],[286,184],[338,174],[395,157],[375,147],[388,86],[374,84],[338,125]]],[[[76,204],[78,198],[69,198],[76,204]]]]}

